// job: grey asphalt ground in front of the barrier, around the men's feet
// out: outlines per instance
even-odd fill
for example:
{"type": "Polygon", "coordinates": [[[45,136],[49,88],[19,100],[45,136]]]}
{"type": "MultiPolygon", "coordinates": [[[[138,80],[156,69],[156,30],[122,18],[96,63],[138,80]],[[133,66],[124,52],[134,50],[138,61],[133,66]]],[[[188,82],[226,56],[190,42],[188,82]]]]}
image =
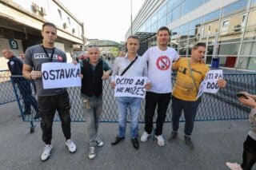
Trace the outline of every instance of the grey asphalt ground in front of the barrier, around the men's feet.
{"type": "MultiPolygon", "coordinates": [[[[97,148],[94,160],[88,158],[88,140],[84,122],[73,122],[72,139],[77,144],[77,152],[71,154],[65,147],[65,139],[59,122],[54,122],[54,148],[50,160],[40,160],[44,144],[38,123],[34,133],[30,133],[30,124],[18,117],[17,102],[0,105],[0,170],[27,169],[177,169],[177,170],[215,170],[228,169],[225,162],[242,160],[242,143],[249,130],[247,120],[240,121],[199,121],[195,122],[192,140],[194,150],[186,148],[182,140],[184,123],[181,123],[178,139],[168,141],[170,123],[164,125],[164,147],[158,146],[156,140],[140,142],[140,148],[132,147],[129,131],[126,139],[116,146],[111,146],[118,132],[118,124],[102,123],[98,129],[105,144],[97,148]]],[[[140,124],[139,135],[142,135],[140,124]]],[[[254,166],[256,169],[256,166],[254,166]]]]}

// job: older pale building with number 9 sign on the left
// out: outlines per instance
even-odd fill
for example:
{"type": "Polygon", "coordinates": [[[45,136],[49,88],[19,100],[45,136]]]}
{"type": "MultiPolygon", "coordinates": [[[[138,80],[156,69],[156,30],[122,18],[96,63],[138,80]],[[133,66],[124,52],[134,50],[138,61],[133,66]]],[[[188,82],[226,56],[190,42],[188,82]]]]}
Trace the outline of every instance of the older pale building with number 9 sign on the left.
{"type": "MultiPolygon", "coordinates": [[[[42,43],[44,22],[57,26],[55,45],[66,52],[68,61],[74,48],[85,44],[84,25],[58,0],[0,0],[0,50],[12,49],[16,55],[30,45],[42,43]]],[[[0,69],[6,69],[0,54],[0,69]]]]}

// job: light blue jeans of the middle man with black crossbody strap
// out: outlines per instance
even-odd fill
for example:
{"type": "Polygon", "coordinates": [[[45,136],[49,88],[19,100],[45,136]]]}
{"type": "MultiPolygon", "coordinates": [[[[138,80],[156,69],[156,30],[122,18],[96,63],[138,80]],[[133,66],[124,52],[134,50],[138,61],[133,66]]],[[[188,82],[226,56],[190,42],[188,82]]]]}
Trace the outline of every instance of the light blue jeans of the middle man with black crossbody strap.
{"type": "Polygon", "coordinates": [[[141,108],[142,98],[138,97],[117,97],[119,113],[119,137],[126,136],[127,109],[130,109],[130,137],[138,136],[138,114],[141,108]]]}

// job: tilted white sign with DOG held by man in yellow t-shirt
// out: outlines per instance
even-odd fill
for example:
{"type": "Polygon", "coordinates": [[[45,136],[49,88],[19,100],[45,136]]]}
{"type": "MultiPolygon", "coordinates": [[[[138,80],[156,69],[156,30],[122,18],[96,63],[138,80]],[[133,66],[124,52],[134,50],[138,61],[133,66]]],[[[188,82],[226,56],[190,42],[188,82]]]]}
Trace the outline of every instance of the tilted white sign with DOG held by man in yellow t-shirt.
{"type": "MultiPolygon", "coordinates": [[[[218,93],[218,79],[222,79],[222,69],[210,70],[207,72],[205,79],[202,81],[199,90],[198,97],[202,96],[202,93],[218,93]]],[[[198,98],[197,97],[197,98],[198,98]]]]}

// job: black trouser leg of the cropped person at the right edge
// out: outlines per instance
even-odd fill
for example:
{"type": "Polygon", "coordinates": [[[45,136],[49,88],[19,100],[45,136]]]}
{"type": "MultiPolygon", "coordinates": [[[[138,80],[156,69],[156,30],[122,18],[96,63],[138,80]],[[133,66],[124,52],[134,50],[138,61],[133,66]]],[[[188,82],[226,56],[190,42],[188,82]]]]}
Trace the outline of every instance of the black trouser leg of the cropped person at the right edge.
{"type": "Polygon", "coordinates": [[[243,143],[241,167],[244,170],[250,170],[251,168],[253,168],[255,162],[256,162],[256,140],[254,140],[248,135],[246,138],[246,141],[243,143]]]}

